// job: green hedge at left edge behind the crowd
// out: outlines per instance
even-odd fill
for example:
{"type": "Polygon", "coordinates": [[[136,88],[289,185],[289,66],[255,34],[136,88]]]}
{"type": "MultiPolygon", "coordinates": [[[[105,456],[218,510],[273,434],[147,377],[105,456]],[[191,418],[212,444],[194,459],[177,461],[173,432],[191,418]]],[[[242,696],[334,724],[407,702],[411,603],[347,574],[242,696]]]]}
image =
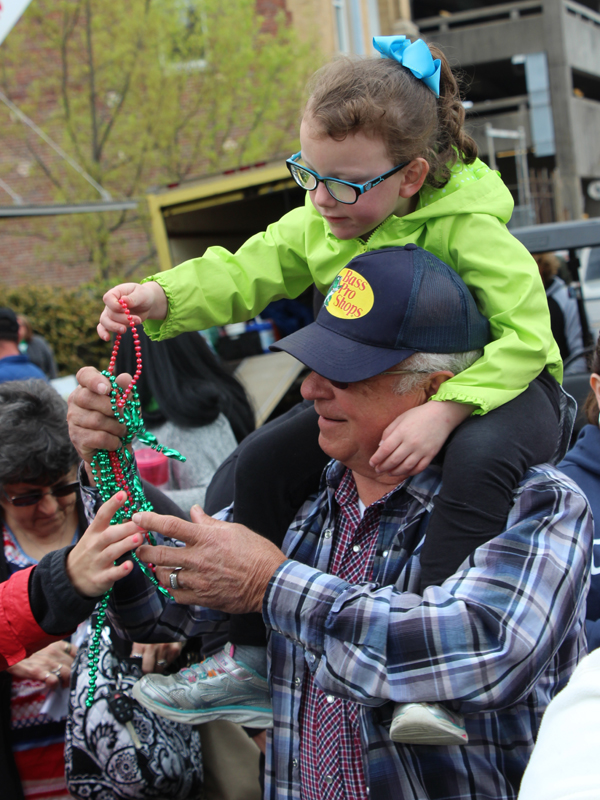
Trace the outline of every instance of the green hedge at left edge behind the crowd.
{"type": "Polygon", "coordinates": [[[106,369],[111,347],[96,332],[103,308],[101,295],[93,289],[62,289],[58,286],[2,288],[3,305],[26,314],[35,333],[54,350],[60,375],[75,374],[93,366],[106,369]]]}

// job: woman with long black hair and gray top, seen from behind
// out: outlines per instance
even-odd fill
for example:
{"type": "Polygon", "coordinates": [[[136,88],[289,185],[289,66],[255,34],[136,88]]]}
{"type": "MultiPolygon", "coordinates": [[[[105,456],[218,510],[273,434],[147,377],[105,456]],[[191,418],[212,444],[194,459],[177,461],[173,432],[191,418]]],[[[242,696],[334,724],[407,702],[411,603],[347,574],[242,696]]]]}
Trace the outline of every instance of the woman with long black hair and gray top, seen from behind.
{"type": "MultiPolygon", "coordinates": [[[[194,503],[203,506],[216,469],[254,430],[254,414],[242,385],[198,333],[151,342],[141,325],[137,330],[144,364],[137,383],[144,424],[161,444],[187,459],[185,463],[169,459],[165,493],[184,510],[194,503]]],[[[121,340],[115,374],[133,374],[135,363],[128,331],[121,340]]]]}

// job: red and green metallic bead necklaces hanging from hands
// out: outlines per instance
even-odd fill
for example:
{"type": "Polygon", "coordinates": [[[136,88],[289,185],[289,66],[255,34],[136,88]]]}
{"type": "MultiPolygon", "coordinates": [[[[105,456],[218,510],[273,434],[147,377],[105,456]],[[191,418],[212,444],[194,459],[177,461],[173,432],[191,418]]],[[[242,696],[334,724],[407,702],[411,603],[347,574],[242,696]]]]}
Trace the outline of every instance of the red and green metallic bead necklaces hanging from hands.
{"type": "MultiPolygon", "coordinates": [[[[177,450],[172,450],[168,447],[163,447],[159,444],[158,439],[150,431],[145,430],[142,420],[140,398],[135,384],[137,383],[142,372],[142,347],[140,345],[140,337],[135,329],[133,318],[129,313],[129,309],[125,301],[121,298],[119,300],[121,307],[127,315],[127,322],[131,328],[133,341],[135,346],[135,359],[136,370],[129,386],[126,389],[121,389],[117,384],[114,376],[115,363],[117,352],[121,343],[121,334],[119,333],[115,339],[112,355],[108,370],[103,370],[102,374],[105,375],[110,381],[110,405],[112,412],[122,425],[125,425],[127,432],[121,438],[121,446],[116,451],[109,452],[108,450],[98,450],[92,463],[90,465],[96,486],[100,492],[102,502],[106,502],[118,491],[123,490],[127,499],[121,508],[117,510],[114,517],[111,519],[111,525],[118,525],[131,519],[132,515],[138,511],[152,511],[153,507],[149,500],[144,495],[142,482],[139,478],[135,468],[135,457],[133,453],[129,452],[127,445],[129,445],[134,437],[148,445],[153,450],[159,453],[164,453],[169,458],[175,458],[177,461],[185,461],[185,456],[182,456],[177,450]]],[[[146,540],[149,544],[155,545],[156,539],[151,531],[147,531],[146,540]]],[[[166,597],[172,596],[161,586],[155,575],[153,574],[152,565],[146,566],[135,552],[131,552],[131,558],[139,566],[144,575],[150,580],[156,589],[166,597]]],[[[94,633],[90,642],[89,648],[89,661],[88,668],[90,671],[88,694],[85,704],[88,708],[91,707],[94,701],[94,692],[96,690],[96,677],[98,672],[99,652],[100,652],[100,637],[104,621],[106,618],[106,609],[108,601],[112,592],[112,587],[106,592],[96,609],[96,619],[94,622],[94,633]]]]}

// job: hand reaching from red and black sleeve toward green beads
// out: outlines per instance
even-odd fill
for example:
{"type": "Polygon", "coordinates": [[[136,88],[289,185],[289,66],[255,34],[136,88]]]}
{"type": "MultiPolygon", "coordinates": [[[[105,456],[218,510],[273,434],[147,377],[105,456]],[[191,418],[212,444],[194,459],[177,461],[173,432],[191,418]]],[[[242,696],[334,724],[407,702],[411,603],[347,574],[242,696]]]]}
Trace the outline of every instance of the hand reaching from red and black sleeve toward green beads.
{"type": "Polygon", "coordinates": [[[142,529],[134,522],[110,524],[125,498],[125,492],[117,492],[100,507],[96,519],[67,557],[67,575],[79,594],[99,597],[133,569],[132,561],[114,564],[144,539],[142,529]]]}

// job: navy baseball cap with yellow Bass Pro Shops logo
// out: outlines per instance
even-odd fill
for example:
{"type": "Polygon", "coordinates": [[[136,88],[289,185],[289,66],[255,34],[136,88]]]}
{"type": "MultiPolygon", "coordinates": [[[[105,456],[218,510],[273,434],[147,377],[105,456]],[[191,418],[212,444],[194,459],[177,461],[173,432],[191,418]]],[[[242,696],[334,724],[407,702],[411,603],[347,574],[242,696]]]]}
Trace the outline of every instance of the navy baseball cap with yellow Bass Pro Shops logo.
{"type": "Polygon", "coordinates": [[[414,353],[463,353],[490,340],[459,275],[417,247],[388,247],[340,270],[315,322],[271,346],[334,381],[372,378],[414,353]]]}

